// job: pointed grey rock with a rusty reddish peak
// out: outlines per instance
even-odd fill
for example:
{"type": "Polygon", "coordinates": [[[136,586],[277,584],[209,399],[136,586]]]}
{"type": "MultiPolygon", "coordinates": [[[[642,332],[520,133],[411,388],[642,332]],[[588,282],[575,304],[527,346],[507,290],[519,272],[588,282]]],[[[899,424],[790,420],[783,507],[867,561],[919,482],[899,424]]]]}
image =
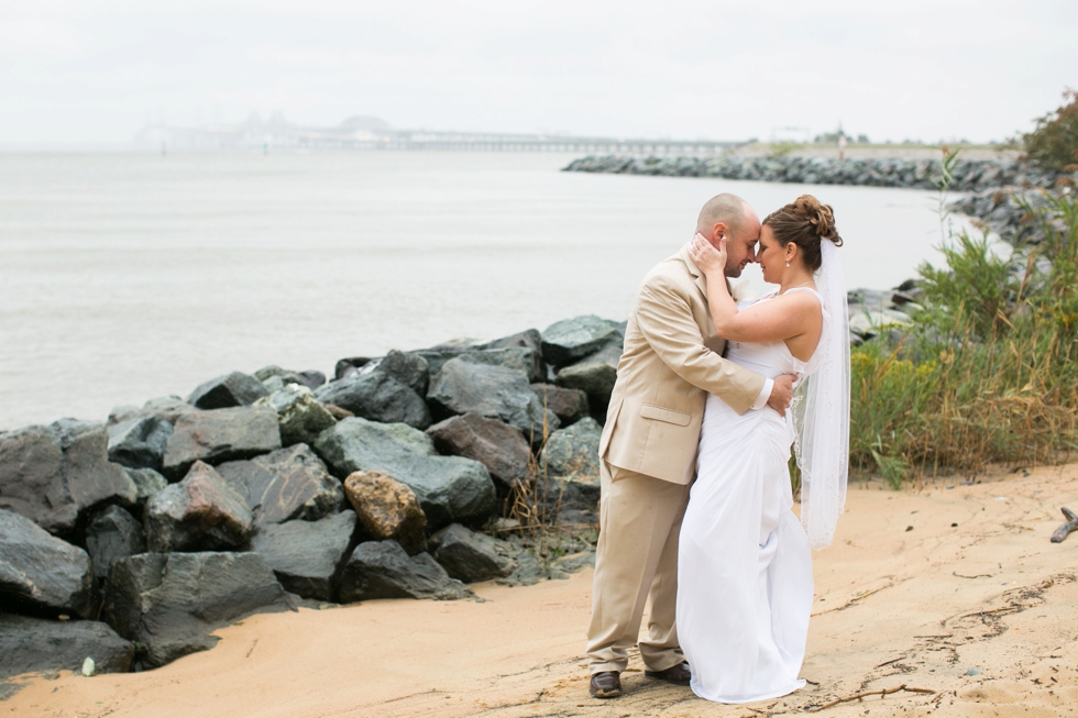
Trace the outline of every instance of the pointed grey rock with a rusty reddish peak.
{"type": "Polygon", "coordinates": [[[146,545],[158,552],[239,549],[253,523],[243,498],[202,462],[146,502],[145,521],[146,545]]]}

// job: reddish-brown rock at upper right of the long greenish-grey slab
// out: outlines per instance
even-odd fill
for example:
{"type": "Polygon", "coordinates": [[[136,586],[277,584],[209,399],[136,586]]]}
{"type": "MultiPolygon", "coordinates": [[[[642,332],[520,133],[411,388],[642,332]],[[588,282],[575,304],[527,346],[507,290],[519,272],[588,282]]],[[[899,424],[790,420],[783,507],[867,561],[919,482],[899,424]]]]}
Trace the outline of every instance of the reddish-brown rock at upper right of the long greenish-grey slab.
{"type": "Polygon", "coordinates": [[[427,435],[441,453],[480,462],[506,488],[528,483],[531,449],[516,427],[465,413],[436,423],[427,429],[427,435]]]}

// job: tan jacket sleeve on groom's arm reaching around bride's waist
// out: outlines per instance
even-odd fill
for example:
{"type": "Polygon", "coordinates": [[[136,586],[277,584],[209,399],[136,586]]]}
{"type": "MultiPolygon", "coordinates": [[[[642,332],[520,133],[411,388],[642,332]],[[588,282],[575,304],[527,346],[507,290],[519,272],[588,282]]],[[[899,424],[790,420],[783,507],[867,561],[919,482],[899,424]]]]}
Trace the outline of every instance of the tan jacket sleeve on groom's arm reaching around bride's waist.
{"type": "Polygon", "coordinates": [[[640,289],[637,324],[674,374],[718,396],[738,413],[748,411],[760,396],[766,377],[707,349],[689,299],[662,277],[640,289]]]}

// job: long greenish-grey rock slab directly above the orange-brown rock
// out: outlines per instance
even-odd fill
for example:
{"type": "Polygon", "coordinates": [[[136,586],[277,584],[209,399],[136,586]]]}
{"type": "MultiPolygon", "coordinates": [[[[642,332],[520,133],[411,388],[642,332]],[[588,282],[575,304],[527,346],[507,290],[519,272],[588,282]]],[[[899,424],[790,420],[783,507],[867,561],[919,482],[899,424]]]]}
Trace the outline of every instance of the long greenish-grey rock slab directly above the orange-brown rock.
{"type": "Polygon", "coordinates": [[[321,433],[315,451],[337,476],[375,471],[406,484],[429,530],[451,521],[483,521],[496,509],[494,483],[483,464],[439,456],[427,434],[403,423],[344,419],[321,433]]]}

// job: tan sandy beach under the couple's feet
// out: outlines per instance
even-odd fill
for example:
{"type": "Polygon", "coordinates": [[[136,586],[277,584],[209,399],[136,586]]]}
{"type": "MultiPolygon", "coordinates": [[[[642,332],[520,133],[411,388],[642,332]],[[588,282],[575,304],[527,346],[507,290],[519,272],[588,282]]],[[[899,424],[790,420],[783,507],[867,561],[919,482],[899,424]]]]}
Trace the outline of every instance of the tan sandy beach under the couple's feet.
{"type": "Polygon", "coordinates": [[[1048,538],[1059,507],[1078,507],[1076,479],[1069,464],[972,485],[851,485],[835,545],[814,557],[810,684],[779,700],[710,704],[646,678],[638,660],[623,676],[627,695],[592,699],[588,570],[530,587],[480,584],[479,601],[254,616],[220,631],[213,650],[156,671],[22,676],[0,715],[1065,715],[1078,700],[1078,537],[1048,538]],[[825,707],[899,686],[921,692],[825,707]]]}

